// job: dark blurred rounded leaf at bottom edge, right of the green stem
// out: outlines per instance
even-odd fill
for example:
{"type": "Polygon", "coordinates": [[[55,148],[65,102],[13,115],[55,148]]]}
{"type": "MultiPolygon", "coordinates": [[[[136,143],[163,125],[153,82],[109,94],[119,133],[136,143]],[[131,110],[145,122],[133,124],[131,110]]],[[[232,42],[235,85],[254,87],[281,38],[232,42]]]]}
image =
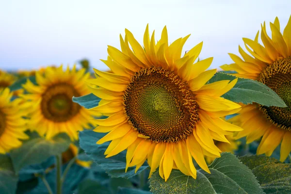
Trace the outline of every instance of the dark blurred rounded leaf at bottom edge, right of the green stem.
{"type": "Polygon", "coordinates": [[[78,186],[78,194],[111,194],[111,192],[96,180],[83,180],[78,186]]]}

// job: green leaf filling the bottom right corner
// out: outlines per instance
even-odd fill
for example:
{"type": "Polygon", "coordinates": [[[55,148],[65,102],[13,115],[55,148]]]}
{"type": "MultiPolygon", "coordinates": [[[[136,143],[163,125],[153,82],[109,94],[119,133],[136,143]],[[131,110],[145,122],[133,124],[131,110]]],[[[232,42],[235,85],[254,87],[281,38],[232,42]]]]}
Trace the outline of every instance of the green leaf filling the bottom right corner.
{"type": "Polygon", "coordinates": [[[266,194],[291,194],[291,163],[257,155],[239,159],[252,170],[266,194]]]}

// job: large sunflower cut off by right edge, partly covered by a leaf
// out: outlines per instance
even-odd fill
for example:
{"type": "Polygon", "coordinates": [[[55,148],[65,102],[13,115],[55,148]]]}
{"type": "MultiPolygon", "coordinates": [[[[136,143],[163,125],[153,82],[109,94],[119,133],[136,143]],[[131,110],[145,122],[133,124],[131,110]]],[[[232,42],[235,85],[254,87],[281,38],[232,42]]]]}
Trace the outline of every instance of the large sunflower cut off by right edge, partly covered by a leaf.
{"type": "Polygon", "coordinates": [[[230,119],[244,130],[237,138],[247,137],[247,143],[263,137],[257,154],[270,156],[281,144],[280,161],[284,161],[291,151],[291,17],[283,32],[280,32],[279,20],[270,23],[272,37],[266,32],[265,23],[261,25],[255,41],[243,38],[251,57],[239,47],[243,60],[229,54],[235,64],[221,66],[225,70],[237,71],[237,76],[257,80],[269,86],[279,95],[288,107],[266,107],[259,104],[243,106],[241,114],[230,119]]]}

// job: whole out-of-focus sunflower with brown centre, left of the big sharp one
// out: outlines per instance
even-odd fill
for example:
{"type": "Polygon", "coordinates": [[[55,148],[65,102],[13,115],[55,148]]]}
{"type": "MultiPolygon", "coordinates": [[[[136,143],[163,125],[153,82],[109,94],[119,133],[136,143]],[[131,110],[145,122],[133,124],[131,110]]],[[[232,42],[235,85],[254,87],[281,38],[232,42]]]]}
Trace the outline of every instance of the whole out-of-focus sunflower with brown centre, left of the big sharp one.
{"type": "Polygon", "coordinates": [[[78,139],[78,131],[91,128],[93,114],[72,101],[72,97],[80,97],[90,93],[85,81],[90,76],[85,69],[76,71],[76,66],[70,71],[47,67],[44,73],[36,72],[34,85],[30,80],[23,85],[28,92],[21,97],[26,100],[26,106],[31,107],[29,126],[31,129],[46,136],[65,132],[72,140],[78,139]]]}

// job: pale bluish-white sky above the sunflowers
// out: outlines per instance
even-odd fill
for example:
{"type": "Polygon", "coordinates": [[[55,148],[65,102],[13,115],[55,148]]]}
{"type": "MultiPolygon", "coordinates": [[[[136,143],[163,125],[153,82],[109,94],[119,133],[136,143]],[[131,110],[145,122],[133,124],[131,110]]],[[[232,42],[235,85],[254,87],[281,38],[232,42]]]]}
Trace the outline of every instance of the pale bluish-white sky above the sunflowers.
{"type": "Polygon", "coordinates": [[[169,42],[191,34],[183,51],[203,41],[200,59],[210,68],[232,63],[242,37],[254,39],[260,24],[278,16],[281,31],[291,15],[291,0],[0,0],[0,69],[73,65],[88,59],[107,70],[107,46],[120,49],[125,28],[142,43],[146,24],[169,42]]]}

